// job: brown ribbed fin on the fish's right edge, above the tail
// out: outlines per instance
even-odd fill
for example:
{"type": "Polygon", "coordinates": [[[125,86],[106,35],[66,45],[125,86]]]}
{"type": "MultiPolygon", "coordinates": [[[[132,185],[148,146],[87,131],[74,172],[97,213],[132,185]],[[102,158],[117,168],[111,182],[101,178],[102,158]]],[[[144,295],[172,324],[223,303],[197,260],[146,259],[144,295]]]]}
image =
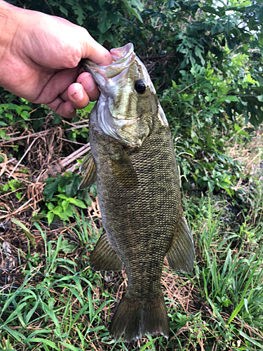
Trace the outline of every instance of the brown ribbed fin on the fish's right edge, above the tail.
{"type": "Polygon", "coordinates": [[[194,241],[183,214],[177,221],[173,242],[167,253],[168,263],[173,270],[191,272],[194,266],[194,241]]]}

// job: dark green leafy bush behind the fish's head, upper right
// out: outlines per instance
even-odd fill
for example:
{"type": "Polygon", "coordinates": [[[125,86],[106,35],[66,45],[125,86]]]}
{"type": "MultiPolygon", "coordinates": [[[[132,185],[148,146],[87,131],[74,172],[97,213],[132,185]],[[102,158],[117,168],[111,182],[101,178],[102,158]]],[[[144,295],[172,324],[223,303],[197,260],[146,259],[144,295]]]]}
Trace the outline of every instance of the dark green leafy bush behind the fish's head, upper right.
{"type": "MultiPolygon", "coordinates": [[[[188,182],[183,180],[184,187],[195,183],[233,196],[242,166],[227,154],[227,136],[242,127],[241,115],[255,128],[263,121],[263,12],[257,1],[26,0],[17,5],[82,25],[107,48],[132,41],[173,129],[188,182]]],[[[76,141],[87,132],[67,133],[76,141]]]]}

